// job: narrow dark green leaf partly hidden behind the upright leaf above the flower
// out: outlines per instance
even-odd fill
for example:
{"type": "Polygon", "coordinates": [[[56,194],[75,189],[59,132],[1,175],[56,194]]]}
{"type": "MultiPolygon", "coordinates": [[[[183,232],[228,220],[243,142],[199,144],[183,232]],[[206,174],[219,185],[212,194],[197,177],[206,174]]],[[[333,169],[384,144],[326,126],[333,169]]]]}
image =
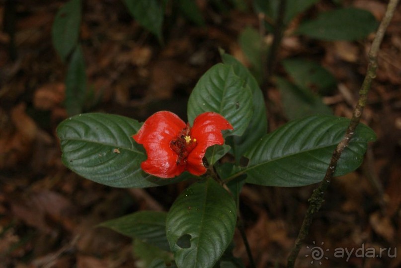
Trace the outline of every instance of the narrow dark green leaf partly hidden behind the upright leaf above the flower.
{"type": "Polygon", "coordinates": [[[262,91],[256,79],[252,76],[249,70],[244,67],[233,56],[220,52],[224,64],[230,64],[235,74],[245,81],[245,85],[252,92],[253,116],[249,122],[249,126],[241,136],[234,137],[234,154],[237,162],[241,156],[255,143],[259,138],[267,133],[267,118],[266,107],[262,91]]]}

